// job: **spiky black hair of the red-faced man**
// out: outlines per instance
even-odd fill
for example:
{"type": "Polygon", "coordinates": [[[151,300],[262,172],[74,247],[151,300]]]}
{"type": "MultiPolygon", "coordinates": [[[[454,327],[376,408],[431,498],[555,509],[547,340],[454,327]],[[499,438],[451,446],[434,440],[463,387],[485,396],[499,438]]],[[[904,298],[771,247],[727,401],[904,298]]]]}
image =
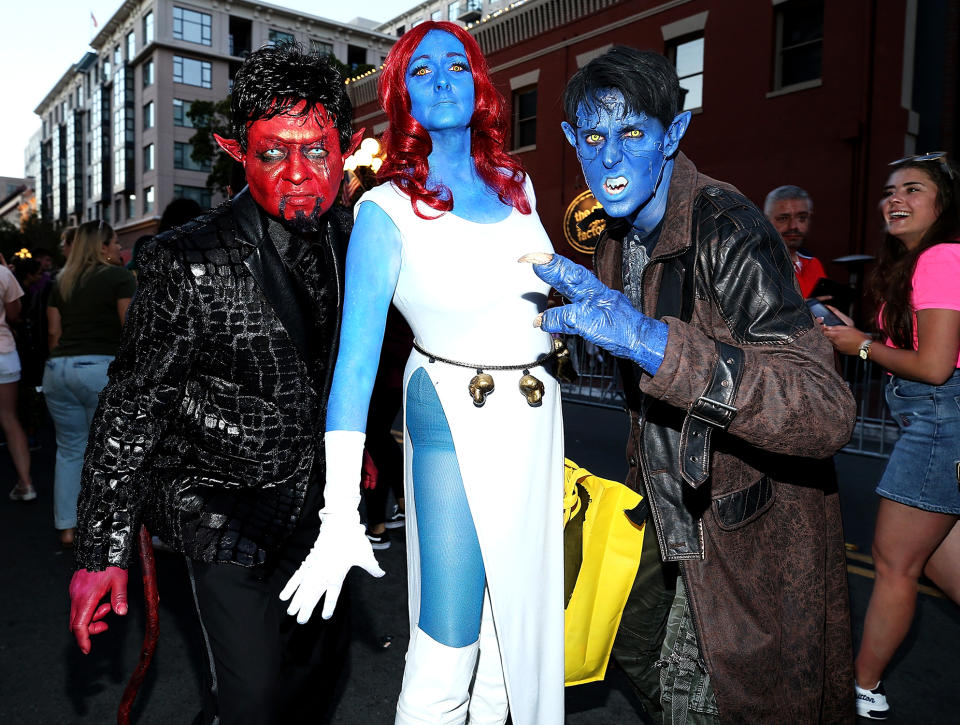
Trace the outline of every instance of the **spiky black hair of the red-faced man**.
{"type": "Polygon", "coordinates": [[[343,76],[326,56],[308,53],[299,43],[278,43],[254,51],[233,80],[233,136],[247,150],[247,126],[289,112],[301,101],[304,114],[321,104],[337,124],[340,151],[350,147],[353,107],[343,76]]]}

